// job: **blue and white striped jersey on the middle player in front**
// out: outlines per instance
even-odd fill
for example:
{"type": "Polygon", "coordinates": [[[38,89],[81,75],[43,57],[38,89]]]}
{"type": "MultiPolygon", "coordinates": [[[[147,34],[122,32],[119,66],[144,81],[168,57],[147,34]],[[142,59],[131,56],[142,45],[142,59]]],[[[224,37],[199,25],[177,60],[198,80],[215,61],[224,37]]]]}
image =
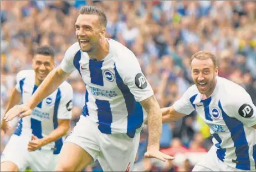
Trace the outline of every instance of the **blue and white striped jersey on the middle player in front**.
{"type": "Polygon", "coordinates": [[[82,115],[97,122],[102,133],[134,137],[146,119],[139,102],[152,96],[153,90],[134,53],[117,41],[108,41],[110,50],[104,60],[91,60],[76,42],[60,66],[67,73],[77,69],[86,84],[82,115]]]}

